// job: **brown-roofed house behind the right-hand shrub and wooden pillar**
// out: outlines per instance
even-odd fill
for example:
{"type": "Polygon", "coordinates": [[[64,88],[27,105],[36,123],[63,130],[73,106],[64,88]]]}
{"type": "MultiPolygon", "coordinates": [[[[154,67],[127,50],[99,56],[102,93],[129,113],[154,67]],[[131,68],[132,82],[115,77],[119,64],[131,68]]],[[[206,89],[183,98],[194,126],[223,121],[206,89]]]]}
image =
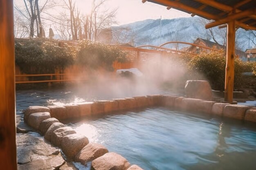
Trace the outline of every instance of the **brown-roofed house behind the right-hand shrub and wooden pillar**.
{"type": "MultiPolygon", "coordinates": [[[[209,48],[216,48],[216,49],[226,50],[226,46],[220,45],[216,42],[211,42],[209,40],[205,40],[203,38],[197,38],[194,41],[194,44],[198,44],[198,45],[201,45],[201,46],[207,46],[209,48]]],[[[190,46],[187,50],[191,53],[201,53],[202,51],[204,51],[206,53],[210,53],[210,50],[200,48],[198,46],[190,46]]],[[[237,49],[236,49],[236,55],[238,56],[238,58],[241,58],[241,59],[246,57],[246,55],[243,51],[240,51],[240,50],[237,50],[237,49]]]]}

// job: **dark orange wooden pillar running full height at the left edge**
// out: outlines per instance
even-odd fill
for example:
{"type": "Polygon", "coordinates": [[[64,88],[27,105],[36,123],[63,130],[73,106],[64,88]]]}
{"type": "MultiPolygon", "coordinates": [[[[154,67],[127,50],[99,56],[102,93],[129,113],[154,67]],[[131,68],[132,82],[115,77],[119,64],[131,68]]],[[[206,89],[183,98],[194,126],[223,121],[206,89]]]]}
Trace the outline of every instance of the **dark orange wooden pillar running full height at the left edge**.
{"type": "Polygon", "coordinates": [[[0,169],[17,170],[13,0],[0,0],[0,169]]]}

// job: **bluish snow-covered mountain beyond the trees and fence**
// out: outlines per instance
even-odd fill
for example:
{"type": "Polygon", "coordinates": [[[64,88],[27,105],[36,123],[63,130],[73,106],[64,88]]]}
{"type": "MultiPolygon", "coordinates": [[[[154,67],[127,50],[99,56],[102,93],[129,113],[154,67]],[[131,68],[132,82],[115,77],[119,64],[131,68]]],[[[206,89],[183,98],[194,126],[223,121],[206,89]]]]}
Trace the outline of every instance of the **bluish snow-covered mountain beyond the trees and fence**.
{"type": "MultiPolygon", "coordinates": [[[[213,41],[209,32],[204,28],[203,19],[200,17],[175,18],[171,20],[143,20],[112,28],[113,43],[129,43],[134,46],[157,45],[168,41],[193,42],[196,38],[204,38],[213,41]],[[161,36],[160,36],[161,35],[161,36]]],[[[223,31],[214,28],[216,40],[223,43],[223,31]]],[[[249,45],[249,31],[238,29],[238,49],[245,51],[249,45]]],[[[252,43],[251,43],[252,45],[252,43]]],[[[172,45],[166,46],[174,48],[172,45]]],[[[182,46],[180,46],[182,48],[182,46]]]]}

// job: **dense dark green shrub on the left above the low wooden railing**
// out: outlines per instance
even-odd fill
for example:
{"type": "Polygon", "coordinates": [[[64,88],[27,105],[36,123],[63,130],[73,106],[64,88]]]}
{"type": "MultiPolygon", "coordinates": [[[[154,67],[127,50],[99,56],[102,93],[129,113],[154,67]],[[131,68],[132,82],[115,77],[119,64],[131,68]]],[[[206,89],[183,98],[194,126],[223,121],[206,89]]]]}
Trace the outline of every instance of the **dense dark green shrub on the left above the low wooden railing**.
{"type": "Polygon", "coordinates": [[[70,46],[58,46],[57,40],[16,39],[15,63],[23,73],[54,73],[74,63],[75,50],[70,46]]]}

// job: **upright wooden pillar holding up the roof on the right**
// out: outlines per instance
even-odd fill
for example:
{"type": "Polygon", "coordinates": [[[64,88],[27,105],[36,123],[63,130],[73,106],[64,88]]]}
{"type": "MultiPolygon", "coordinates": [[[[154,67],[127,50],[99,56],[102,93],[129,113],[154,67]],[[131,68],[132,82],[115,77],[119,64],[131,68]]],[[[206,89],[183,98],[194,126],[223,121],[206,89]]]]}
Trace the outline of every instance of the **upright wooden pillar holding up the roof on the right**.
{"type": "Polygon", "coordinates": [[[233,102],[234,72],[235,72],[235,21],[227,25],[227,64],[225,75],[225,102],[233,102]]]}

